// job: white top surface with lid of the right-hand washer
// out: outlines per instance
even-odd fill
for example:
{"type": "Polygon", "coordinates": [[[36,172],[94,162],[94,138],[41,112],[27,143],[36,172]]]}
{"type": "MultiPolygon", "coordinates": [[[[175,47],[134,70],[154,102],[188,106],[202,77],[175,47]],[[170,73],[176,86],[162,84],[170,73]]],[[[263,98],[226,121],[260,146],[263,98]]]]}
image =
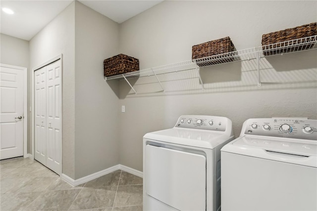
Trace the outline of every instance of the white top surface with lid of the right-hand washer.
{"type": "Polygon", "coordinates": [[[317,167],[316,141],[243,136],[225,145],[221,151],[317,167]]]}

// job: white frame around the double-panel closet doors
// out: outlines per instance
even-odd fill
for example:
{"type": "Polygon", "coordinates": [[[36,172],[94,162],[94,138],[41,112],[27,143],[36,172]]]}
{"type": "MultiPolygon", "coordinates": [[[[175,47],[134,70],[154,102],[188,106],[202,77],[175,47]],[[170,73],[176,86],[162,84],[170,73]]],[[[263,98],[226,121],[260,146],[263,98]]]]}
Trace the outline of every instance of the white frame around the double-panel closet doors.
{"type": "MultiPolygon", "coordinates": [[[[34,159],[35,155],[34,155],[34,152],[35,152],[35,145],[34,145],[34,130],[35,130],[35,127],[34,127],[34,124],[35,124],[35,118],[34,118],[34,100],[35,100],[35,97],[34,97],[34,72],[38,69],[41,69],[42,67],[45,67],[57,60],[60,60],[60,74],[61,74],[61,77],[60,77],[60,80],[61,80],[61,99],[60,99],[60,102],[61,102],[61,105],[63,105],[63,54],[60,53],[59,55],[55,56],[54,58],[44,62],[43,64],[40,64],[34,68],[32,68],[32,159],[34,159]]],[[[60,132],[61,132],[61,142],[63,143],[63,106],[61,106],[61,111],[60,111],[60,118],[61,118],[61,127],[60,127],[60,132]]],[[[61,160],[61,165],[60,165],[60,169],[59,169],[59,172],[60,172],[60,175],[62,174],[62,169],[63,169],[63,144],[60,145],[60,160],[61,160]]]]}

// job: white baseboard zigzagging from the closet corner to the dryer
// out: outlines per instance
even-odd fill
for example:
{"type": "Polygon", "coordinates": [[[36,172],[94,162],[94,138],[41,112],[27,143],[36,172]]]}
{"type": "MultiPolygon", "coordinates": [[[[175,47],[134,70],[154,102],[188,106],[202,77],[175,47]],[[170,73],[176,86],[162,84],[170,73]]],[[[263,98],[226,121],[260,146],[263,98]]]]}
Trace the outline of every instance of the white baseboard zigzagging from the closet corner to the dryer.
{"type": "Polygon", "coordinates": [[[72,186],[77,186],[77,185],[83,184],[85,182],[89,182],[93,179],[97,179],[98,177],[104,176],[108,173],[111,173],[111,172],[119,170],[119,169],[143,178],[142,171],[138,171],[136,169],[133,169],[133,168],[130,168],[128,166],[121,165],[121,164],[114,165],[112,167],[106,168],[104,170],[98,171],[96,173],[84,176],[84,177],[76,179],[76,180],[70,178],[66,174],[61,174],[60,178],[62,178],[63,180],[65,180],[66,182],[71,184],[72,186]]]}

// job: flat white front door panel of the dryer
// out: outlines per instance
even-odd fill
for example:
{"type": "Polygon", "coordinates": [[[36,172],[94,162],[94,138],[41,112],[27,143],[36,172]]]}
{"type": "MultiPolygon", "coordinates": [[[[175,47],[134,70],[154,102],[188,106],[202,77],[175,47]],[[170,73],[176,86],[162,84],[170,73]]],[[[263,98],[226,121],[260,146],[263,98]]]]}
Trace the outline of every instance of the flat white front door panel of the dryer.
{"type": "Polygon", "coordinates": [[[206,210],[206,157],[146,146],[145,189],[177,210],[206,210]]]}

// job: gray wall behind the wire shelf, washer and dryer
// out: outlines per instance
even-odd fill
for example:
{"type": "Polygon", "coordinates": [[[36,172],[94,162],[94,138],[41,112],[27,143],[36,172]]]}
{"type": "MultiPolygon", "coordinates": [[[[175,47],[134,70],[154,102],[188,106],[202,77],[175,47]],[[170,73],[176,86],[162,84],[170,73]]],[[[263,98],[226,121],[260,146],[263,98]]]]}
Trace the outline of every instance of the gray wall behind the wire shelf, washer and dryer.
{"type": "MultiPolygon", "coordinates": [[[[120,24],[120,53],[140,59],[140,68],[191,59],[193,45],[229,36],[237,50],[261,46],[262,35],[316,22],[316,1],[163,1],[120,24]]],[[[261,60],[262,87],[254,62],[234,62],[201,70],[130,79],[119,85],[120,163],[142,170],[142,137],[173,127],[184,114],[226,116],[239,136],[253,117],[317,119],[316,51],[261,60]]]]}

